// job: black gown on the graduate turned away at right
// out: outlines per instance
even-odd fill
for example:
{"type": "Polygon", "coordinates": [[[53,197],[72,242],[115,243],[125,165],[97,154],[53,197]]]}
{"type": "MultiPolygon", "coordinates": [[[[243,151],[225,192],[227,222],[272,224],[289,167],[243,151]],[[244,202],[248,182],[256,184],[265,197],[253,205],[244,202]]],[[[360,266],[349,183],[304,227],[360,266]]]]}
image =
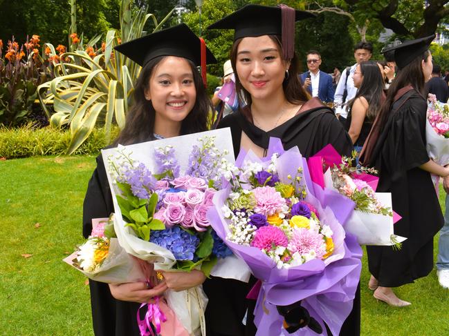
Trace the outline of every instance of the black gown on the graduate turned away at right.
{"type": "Polygon", "coordinates": [[[393,210],[402,216],[394,224],[394,233],[408,238],[399,251],[391,246],[367,246],[369,272],[384,287],[409,284],[430,273],[433,237],[443,226],[430,173],[419,168],[429,161],[425,150],[427,103],[411,86],[407,90],[396,95],[369,160],[380,172],[377,191],[391,192],[393,210]]]}

